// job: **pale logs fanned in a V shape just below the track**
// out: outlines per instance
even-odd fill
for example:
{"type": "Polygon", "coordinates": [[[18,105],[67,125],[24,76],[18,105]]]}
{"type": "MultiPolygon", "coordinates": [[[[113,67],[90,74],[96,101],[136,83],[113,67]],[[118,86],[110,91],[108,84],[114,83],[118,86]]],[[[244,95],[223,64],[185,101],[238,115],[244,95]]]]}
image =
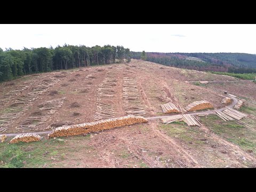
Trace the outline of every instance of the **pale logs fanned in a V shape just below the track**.
{"type": "Polygon", "coordinates": [[[174,121],[178,121],[182,119],[188,126],[201,126],[202,124],[192,115],[185,114],[185,115],[173,115],[167,118],[162,118],[161,121],[165,124],[172,123],[174,121]]]}

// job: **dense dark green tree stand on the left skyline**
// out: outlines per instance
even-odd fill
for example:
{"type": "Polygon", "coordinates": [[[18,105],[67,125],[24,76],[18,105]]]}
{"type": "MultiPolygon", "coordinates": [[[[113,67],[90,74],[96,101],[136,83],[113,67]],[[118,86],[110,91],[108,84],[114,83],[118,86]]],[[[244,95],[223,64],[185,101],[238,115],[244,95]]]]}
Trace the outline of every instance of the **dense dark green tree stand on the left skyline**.
{"type": "Polygon", "coordinates": [[[24,47],[23,50],[9,48],[5,51],[0,48],[0,81],[32,73],[130,60],[130,49],[123,46],[86,47],[65,44],[55,49],[52,46],[31,49],[24,47]]]}

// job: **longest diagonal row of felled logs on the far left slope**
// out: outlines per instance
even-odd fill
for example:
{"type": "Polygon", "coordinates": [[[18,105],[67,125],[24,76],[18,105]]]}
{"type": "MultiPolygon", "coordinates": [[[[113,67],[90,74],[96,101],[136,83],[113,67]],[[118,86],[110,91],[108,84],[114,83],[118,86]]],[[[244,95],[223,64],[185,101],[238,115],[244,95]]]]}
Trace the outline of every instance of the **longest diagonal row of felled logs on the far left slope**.
{"type": "MultiPolygon", "coordinates": [[[[14,105],[9,108],[10,113],[0,116],[0,132],[6,131],[10,124],[15,122],[31,105],[33,105],[32,101],[38,99],[39,95],[46,92],[51,86],[61,80],[61,78],[51,78],[49,75],[41,76],[41,79],[42,78],[43,80],[36,84],[33,90],[14,101],[14,105]]],[[[31,127],[27,128],[29,129],[31,127]]]]}

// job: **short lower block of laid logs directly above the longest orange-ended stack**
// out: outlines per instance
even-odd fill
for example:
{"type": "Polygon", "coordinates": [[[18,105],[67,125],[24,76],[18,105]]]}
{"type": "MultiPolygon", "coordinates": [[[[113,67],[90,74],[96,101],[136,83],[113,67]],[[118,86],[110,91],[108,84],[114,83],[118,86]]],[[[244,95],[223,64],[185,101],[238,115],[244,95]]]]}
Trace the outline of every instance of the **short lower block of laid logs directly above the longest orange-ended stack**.
{"type": "Polygon", "coordinates": [[[114,107],[106,103],[97,102],[97,109],[93,117],[94,120],[109,119],[114,117],[114,107]]]}

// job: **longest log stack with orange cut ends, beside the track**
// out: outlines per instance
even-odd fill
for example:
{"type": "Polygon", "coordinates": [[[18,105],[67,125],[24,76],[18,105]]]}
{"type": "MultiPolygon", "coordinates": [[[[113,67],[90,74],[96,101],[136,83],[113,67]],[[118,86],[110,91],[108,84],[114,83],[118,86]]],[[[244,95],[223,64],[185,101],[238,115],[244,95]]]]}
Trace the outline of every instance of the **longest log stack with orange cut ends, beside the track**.
{"type": "Polygon", "coordinates": [[[52,133],[48,134],[48,137],[65,137],[70,135],[87,134],[90,132],[107,130],[115,127],[144,122],[147,122],[147,119],[144,117],[127,115],[124,117],[105,119],[97,122],[57,127],[52,131],[52,133]]]}

